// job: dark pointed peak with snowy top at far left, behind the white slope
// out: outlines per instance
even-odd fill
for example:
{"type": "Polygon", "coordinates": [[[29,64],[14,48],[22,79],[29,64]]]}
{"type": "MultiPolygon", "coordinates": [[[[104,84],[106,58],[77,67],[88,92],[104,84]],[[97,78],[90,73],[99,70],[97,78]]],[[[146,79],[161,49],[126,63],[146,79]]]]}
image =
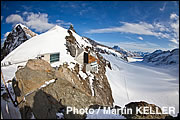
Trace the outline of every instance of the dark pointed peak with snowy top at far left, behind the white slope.
{"type": "Polygon", "coordinates": [[[1,48],[1,60],[26,40],[36,36],[28,27],[17,24],[8,34],[1,48]]]}

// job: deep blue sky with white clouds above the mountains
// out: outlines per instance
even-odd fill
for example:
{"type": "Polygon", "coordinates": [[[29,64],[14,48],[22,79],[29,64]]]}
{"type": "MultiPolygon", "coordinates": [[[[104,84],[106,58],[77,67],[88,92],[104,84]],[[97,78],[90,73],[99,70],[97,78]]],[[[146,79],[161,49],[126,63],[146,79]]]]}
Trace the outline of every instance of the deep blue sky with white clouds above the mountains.
{"type": "Polygon", "coordinates": [[[73,24],[81,36],[131,51],[179,48],[177,1],[1,1],[1,43],[17,23],[38,34],[73,24]]]}

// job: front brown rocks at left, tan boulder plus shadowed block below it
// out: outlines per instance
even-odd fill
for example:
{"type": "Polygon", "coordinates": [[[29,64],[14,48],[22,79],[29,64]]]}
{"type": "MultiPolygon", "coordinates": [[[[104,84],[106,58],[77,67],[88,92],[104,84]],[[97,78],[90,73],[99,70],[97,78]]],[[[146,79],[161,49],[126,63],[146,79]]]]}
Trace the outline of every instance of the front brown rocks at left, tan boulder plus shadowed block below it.
{"type": "Polygon", "coordinates": [[[95,99],[90,94],[70,82],[73,74],[65,70],[66,67],[64,65],[56,71],[46,61],[37,59],[29,60],[24,68],[16,72],[16,80],[21,92],[18,103],[23,118],[30,116],[31,113],[27,111],[32,111],[38,119],[56,118],[56,113],[62,107],[71,106],[80,109],[95,103],[95,99]],[[70,77],[68,78],[67,75],[63,77],[63,71],[70,77]],[[55,79],[55,82],[40,88],[51,79],[55,79]],[[26,101],[21,102],[24,96],[26,101]]]}

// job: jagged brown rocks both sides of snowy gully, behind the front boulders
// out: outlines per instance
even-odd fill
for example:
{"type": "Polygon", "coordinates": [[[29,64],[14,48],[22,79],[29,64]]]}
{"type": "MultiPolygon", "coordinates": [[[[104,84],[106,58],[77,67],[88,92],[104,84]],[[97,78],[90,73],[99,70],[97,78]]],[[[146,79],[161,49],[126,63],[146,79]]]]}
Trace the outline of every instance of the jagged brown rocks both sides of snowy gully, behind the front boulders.
{"type": "MultiPolygon", "coordinates": [[[[99,65],[99,70],[98,73],[92,73],[91,75],[94,75],[93,77],[93,83],[92,86],[90,84],[90,76],[89,74],[85,73],[87,77],[83,79],[79,75],[79,65],[76,64],[74,67],[74,70],[71,71],[68,66],[63,65],[60,66],[59,68],[59,73],[58,74],[60,78],[66,78],[69,82],[71,82],[74,87],[77,89],[80,89],[81,91],[84,91],[87,95],[92,96],[92,89],[94,92],[94,98],[96,100],[97,104],[104,105],[104,106],[112,106],[114,100],[112,98],[112,91],[110,88],[110,85],[108,83],[108,79],[105,75],[106,69],[106,61],[103,59],[103,57],[100,55],[99,60],[100,60],[100,65],[99,65]]],[[[110,63],[109,63],[110,64],[110,63]]]]}

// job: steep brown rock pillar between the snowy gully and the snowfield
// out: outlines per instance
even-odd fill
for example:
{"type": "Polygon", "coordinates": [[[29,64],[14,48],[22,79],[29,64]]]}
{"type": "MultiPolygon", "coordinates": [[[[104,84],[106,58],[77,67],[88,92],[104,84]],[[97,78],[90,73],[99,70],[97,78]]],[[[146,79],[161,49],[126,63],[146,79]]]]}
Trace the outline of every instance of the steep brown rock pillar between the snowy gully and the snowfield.
{"type": "MultiPolygon", "coordinates": [[[[94,74],[93,89],[95,99],[99,101],[99,105],[112,106],[114,99],[112,97],[111,87],[105,75],[106,65],[111,67],[110,62],[107,62],[100,54],[97,54],[99,59],[98,73],[94,74]],[[103,104],[102,104],[103,103],[103,104]]],[[[110,68],[111,69],[111,68],[110,68]]]]}

